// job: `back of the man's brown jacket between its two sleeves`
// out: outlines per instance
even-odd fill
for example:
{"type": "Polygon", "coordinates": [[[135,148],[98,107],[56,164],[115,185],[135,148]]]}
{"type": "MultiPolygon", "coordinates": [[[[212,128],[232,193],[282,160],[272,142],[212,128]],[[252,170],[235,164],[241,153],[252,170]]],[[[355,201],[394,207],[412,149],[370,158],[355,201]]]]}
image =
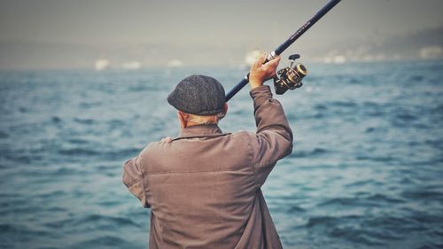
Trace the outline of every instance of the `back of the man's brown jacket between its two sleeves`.
{"type": "MultiPolygon", "coordinates": [[[[140,155],[152,203],[152,244],[234,248],[242,237],[253,235],[244,235],[247,224],[255,221],[249,217],[261,215],[260,203],[254,202],[259,186],[252,144],[245,132],[220,136],[216,127],[189,129],[207,136],[152,144],[140,155]]],[[[260,239],[261,227],[251,227],[248,233],[259,233],[260,239]]]]}

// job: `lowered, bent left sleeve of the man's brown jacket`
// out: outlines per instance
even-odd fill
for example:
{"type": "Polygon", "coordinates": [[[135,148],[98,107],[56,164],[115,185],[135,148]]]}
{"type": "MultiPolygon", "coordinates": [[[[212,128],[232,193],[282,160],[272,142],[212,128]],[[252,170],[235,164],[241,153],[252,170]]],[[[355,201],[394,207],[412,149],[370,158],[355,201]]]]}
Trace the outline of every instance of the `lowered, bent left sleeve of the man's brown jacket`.
{"type": "Polygon", "coordinates": [[[138,167],[138,158],[128,160],[123,165],[123,183],[136,198],[140,199],[142,205],[146,208],[150,207],[144,193],[144,177],[143,169],[138,167]]]}

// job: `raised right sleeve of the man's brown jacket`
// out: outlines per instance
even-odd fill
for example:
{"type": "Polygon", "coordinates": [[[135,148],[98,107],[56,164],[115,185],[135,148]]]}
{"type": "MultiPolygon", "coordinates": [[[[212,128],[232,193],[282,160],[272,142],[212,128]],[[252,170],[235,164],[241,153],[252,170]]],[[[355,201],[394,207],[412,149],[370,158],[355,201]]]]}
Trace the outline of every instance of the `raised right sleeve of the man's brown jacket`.
{"type": "Polygon", "coordinates": [[[257,132],[252,136],[256,181],[261,186],[276,161],[292,152],[292,131],[282,105],[272,97],[269,86],[251,90],[257,132]]]}

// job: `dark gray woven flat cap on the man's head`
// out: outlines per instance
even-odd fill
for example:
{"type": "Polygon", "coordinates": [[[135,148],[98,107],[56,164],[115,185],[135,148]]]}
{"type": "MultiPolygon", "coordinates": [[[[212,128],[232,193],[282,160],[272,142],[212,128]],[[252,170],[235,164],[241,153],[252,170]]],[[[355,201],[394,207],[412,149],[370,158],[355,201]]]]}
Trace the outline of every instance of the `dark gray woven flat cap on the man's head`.
{"type": "Polygon", "coordinates": [[[190,75],[179,82],[167,102],[184,113],[201,116],[221,113],[225,103],[220,82],[205,75],[190,75]]]}

